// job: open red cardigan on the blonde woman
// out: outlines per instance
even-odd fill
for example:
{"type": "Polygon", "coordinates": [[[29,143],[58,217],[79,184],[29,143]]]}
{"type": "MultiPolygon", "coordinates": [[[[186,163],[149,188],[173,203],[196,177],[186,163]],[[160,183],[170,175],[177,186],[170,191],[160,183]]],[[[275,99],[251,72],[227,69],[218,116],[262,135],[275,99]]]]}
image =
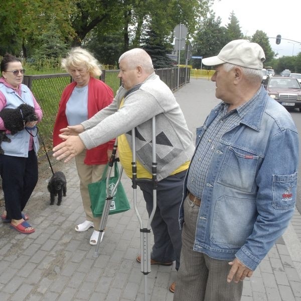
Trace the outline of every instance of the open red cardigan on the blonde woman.
{"type": "MultiPolygon", "coordinates": [[[[67,127],[68,121],[66,116],[66,103],[76,86],[76,82],[69,84],[63,91],[59,103],[59,111],[56,116],[53,128],[53,145],[56,146],[63,140],[59,137],[60,129],[67,127]]],[[[98,111],[108,106],[113,100],[113,91],[101,80],[90,77],[88,83],[88,118],[91,118],[98,111]]],[[[87,149],[84,163],[87,165],[107,164],[107,150],[113,149],[114,139],[107,143],[101,144],[92,149],[87,149]]]]}

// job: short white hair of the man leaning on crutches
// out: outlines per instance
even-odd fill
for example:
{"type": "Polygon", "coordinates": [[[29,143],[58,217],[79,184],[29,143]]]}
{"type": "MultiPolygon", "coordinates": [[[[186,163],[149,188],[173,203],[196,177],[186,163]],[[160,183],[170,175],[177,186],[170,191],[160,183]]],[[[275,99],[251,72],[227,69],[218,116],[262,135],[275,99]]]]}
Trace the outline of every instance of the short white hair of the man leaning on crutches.
{"type": "Polygon", "coordinates": [[[127,60],[128,67],[130,69],[141,66],[142,69],[144,69],[147,73],[154,72],[152,58],[150,58],[147,52],[141,48],[134,48],[124,52],[120,56],[118,63],[120,63],[120,61],[124,59],[127,60]]]}

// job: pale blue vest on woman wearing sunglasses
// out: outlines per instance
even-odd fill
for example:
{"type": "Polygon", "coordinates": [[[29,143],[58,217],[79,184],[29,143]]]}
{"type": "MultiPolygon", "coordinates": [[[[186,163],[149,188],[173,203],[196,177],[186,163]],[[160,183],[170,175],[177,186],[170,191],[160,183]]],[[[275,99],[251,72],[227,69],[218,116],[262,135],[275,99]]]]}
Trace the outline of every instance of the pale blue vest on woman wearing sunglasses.
{"type": "MultiPolygon", "coordinates": [[[[14,89],[5,86],[0,83],[0,91],[4,94],[7,104],[6,108],[17,108],[22,103],[27,103],[34,107],[34,100],[32,98],[32,93],[26,85],[21,85],[22,98],[14,91],[14,89]]],[[[35,136],[37,133],[37,128],[31,130],[32,134],[35,136]]],[[[18,131],[16,134],[7,134],[11,138],[11,142],[3,141],[1,146],[4,149],[5,155],[15,156],[15,157],[28,157],[28,149],[30,142],[30,134],[25,129],[18,131]]],[[[39,150],[39,139],[36,135],[34,139],[34,150],[36,154],[39,150]]]]}

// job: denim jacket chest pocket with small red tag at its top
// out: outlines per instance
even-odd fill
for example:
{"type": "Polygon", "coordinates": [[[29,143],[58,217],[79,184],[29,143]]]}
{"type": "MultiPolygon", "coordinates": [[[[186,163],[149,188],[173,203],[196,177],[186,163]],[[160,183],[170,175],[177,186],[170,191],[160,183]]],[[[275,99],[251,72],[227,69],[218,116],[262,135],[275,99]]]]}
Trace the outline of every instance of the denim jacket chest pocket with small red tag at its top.
{"type": "Polygon", "coordinates": [[[242,149],[229,147],[217,182],[243,192],[253,191],[259,156],[242,149]]]}

